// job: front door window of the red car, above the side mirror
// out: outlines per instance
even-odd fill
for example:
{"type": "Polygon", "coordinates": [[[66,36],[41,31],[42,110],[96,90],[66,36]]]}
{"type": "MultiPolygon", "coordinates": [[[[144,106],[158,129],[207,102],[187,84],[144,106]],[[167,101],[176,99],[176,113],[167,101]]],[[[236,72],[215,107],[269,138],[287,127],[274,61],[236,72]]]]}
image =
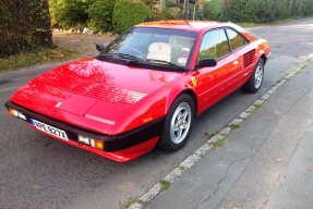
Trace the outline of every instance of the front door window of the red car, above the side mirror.
{"type": "Polygon", "coordinates": [[[197,59],[214,57],[219,59],[230,52],[227,36],[224,29],[207,32],[202,39],[197,59]]]}

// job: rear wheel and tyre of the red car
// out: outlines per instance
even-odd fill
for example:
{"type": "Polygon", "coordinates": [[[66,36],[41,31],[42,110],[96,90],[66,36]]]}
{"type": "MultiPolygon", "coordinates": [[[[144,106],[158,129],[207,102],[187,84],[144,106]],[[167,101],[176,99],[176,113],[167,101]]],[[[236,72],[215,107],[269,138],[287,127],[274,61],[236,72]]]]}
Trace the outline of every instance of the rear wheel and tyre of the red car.
{"type": "Polygon", "coordinates": [[[244,93],[252,93],[252,94],[257,93],[258,89],[261,88],[263,77],[264,77],[264,62],[263,59],[260,58],[250,79],[241,87],[241,90],[244,93]]]}

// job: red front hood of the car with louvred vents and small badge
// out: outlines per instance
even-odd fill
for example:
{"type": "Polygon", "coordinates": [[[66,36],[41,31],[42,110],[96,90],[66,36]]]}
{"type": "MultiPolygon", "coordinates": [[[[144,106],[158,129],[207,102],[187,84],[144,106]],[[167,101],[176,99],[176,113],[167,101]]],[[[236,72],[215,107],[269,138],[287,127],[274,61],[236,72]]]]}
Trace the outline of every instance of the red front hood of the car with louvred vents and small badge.
{"type": "Polygon", "coordinates": [[[57,120],[108,133],[133,106],[182,75],[88,58],[39,75],[17,90],[11,101],[57,120]]]}

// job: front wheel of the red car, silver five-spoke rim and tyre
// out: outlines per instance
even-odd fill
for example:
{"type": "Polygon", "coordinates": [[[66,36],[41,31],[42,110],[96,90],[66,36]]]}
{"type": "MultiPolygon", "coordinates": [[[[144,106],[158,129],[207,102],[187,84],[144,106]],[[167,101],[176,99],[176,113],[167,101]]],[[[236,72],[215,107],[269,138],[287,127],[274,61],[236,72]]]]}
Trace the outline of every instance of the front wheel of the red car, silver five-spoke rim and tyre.
{"type": "Polygon", "coordinates": [[[194,102],[190,95],[182,94],[172,102],[165,119],[158,147],[165,151],[177,151],[188,140],[195,115],[194,102]]]}

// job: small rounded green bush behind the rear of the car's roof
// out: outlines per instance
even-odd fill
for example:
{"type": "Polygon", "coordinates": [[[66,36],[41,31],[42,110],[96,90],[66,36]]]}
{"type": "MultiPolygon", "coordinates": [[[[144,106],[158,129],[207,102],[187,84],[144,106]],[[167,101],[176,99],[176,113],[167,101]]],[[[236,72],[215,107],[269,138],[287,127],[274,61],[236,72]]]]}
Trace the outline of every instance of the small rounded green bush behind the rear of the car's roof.
{"type": "Polygon", "coordinates": [[[220,0],[206,1],[203,5],[203,17],[209,21],[221,21],[224,4],[220,0]]]}

